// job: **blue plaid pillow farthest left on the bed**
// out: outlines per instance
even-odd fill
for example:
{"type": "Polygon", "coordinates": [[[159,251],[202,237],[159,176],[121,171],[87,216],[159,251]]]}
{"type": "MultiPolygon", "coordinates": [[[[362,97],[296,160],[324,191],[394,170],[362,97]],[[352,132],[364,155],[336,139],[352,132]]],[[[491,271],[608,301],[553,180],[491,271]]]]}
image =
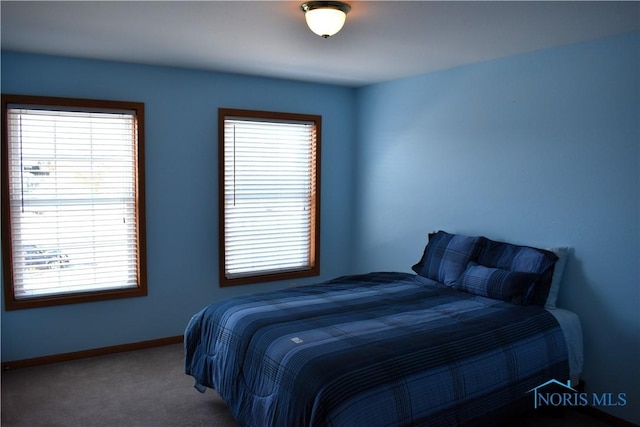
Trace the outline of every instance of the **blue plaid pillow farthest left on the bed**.
{"type": "Polygon", "coordinates": [[[467,263],[477,256],[481,242],[481,237],[449,234],[442,230],[430,233],[422,259],[411,268],[420,276],[452,286],[467,263]]]}

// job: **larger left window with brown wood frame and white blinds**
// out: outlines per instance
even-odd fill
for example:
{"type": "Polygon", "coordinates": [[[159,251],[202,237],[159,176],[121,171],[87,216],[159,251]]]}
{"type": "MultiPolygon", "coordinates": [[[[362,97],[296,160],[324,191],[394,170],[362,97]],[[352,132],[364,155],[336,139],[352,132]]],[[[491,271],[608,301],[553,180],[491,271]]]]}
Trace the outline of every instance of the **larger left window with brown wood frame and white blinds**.
{"type": "Polygon", "coordinates": [[[7,310],[147,294],[144,104],[2,95],[7,310]]]}

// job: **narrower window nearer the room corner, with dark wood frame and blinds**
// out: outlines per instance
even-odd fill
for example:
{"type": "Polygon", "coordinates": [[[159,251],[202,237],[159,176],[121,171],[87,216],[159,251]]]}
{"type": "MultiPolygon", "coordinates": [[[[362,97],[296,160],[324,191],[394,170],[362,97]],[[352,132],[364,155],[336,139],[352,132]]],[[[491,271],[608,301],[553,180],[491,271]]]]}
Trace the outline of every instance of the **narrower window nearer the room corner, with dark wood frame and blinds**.
{"type": "Polygon", "coordinates": [[[318,275],[316,115],[219,110],[220,284],[318,275]]]}

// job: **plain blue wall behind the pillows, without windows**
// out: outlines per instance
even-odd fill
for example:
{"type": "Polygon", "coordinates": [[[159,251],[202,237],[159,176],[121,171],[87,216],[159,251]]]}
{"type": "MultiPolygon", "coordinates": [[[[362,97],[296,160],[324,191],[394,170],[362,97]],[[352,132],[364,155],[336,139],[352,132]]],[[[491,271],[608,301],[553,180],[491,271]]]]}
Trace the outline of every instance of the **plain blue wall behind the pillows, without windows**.
{"type": "MultiPolygon", "coordinates": [[[[588,392],[640,423],[640,35],[360,89],[356,271],[410,271],[444,229],[571,246],[588,392]]],[[[604,409],[604,408],[602,408],[604,409]]]]}

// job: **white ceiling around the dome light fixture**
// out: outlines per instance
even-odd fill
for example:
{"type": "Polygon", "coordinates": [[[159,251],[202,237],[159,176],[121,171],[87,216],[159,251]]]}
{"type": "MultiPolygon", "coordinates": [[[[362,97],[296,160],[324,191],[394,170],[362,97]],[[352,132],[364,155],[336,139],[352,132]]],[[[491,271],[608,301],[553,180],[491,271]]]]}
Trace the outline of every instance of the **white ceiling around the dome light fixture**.
{"type": "Polygon", "coordinates": [[[360,86],[640,31],[640,2],[349,1],[343,30],[303,1],[6,1],[3,50],[360,86]]]}

